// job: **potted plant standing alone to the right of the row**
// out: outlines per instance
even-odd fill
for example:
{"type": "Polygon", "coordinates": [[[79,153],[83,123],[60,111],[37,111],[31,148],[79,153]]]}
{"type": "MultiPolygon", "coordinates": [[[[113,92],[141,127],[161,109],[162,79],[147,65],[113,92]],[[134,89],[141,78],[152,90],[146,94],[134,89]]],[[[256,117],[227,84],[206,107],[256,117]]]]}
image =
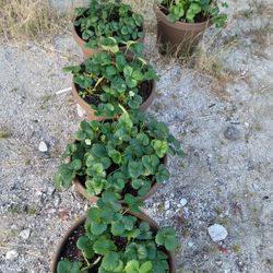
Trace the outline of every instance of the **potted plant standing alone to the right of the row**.
{"type": "MultiPolygon", "coordinates": [[[[227,8],[226,2],[221,3],[227,8]]],[[[163,51],[189,54],[210,24],[222,27],[227,19],[217,0],[157,0],[157,41],[163,51]]]]}

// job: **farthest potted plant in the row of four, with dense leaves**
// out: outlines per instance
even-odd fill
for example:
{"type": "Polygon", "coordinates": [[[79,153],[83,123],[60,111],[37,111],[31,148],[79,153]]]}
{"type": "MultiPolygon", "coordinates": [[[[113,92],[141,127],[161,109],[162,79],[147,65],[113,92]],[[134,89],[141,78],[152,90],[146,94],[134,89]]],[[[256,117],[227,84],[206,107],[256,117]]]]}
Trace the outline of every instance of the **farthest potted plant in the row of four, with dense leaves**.
{"type": "Polygon", "coordinates": [[[105,38],[112,37],[115,46],[126,50],[128,41],[144,38],[143,16],[120,1],[92,0],[87,8],[75,9],[73,37],[88,58],[105,47],[105,38]]]}

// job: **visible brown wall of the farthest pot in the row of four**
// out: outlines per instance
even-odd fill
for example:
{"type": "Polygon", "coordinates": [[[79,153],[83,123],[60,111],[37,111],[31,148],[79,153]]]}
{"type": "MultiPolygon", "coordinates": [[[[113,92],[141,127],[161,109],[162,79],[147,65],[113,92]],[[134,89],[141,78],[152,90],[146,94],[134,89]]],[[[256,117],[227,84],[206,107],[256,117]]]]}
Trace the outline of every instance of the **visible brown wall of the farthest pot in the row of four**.
{"type": "MultiPolygon", "coordinates": [[[[73,24],[73,27],[72,27],[72,36],[73,36],[74,40],[76,41],[76,44],[79,45],[79,47],[82,49],[84,59],[87,59],[87,58],[92,57],[94,54],[103,51],[103,49],[99,49],[99,48],[94,48],[93,49],[93,48],[86,47],[85,46],[85,40],[83,40],[79,36],[79,34],[76,33],[74,24],[73,24]]],[[[145,32],[143,31],[143,37],[139,38],[138,41],[143,43],[144,38],[145,38],[145,32]]],[[[120,50],[126,51],[126,46],[120,47],[120,50]]],[[[127,56],[133,57],[134,55],[133,55],[132,51],[128,50],[127,56]]]]}

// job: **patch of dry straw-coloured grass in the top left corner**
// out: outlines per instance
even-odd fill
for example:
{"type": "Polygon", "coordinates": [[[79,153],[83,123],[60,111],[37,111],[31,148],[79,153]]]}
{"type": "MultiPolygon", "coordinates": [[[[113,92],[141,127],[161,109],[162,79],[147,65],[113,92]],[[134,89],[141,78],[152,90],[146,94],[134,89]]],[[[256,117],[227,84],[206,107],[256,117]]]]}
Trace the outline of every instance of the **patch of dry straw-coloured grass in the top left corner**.
{"type": "Polygon", "coordinates": [[[43,40],[67,29],[70,12],[60,14],[47,0],[0,0],[0,36],[4,41],[43,40]]]}

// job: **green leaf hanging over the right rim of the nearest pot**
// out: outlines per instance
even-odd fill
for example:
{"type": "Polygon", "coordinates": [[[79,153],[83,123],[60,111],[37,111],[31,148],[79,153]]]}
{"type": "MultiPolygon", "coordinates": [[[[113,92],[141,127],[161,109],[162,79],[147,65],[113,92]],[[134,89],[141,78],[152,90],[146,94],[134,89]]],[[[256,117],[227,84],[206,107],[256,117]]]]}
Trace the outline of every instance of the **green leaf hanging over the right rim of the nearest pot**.
{"type": "Polygon", "coordinates": [[[169,251],[175,250],[178,246],[176,232],[173,227],[162,228],[156,234],[155,241],[158,246],[164,246],[169,251]]]}

